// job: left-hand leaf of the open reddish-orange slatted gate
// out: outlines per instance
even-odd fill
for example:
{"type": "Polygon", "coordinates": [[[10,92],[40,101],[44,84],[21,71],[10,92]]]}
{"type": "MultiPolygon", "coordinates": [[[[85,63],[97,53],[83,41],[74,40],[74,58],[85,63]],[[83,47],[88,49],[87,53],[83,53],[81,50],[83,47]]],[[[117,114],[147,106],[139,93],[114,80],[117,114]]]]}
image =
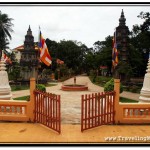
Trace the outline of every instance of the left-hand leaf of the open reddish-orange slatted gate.
{"type": "Polygon", "coordinates": [[[61,132],[60,95],[45,93],[38,90],[35,95],[34,121],[41,123],[56,132],[61,132]]]}

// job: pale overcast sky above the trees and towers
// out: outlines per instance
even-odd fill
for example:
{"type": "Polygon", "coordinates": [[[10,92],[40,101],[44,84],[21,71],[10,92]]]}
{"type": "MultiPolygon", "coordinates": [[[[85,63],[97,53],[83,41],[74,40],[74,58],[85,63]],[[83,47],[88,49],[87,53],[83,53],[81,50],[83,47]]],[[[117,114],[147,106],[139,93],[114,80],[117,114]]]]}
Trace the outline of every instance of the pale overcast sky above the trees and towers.
{"type": "Polygon", "coordinates": [[[137,18],[141,11],[150,12],[150,6],[0,6],[2,13],[14,19],[10,49],[24,43],[29,25],[34,41],[40,26],[45,39],[77,40],[93,47],[94,42],[113,35],[122,9],[129,30],[143,22],[137,18]]]}

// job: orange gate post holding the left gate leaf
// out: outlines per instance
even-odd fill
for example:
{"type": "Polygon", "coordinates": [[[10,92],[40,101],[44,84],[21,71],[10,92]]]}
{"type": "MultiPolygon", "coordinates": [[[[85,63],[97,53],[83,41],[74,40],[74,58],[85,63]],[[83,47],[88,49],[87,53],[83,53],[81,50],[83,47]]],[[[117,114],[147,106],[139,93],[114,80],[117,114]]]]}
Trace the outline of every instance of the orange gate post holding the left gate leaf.
{"type": "Polygon", "coordinates": [[[36,87],[35,83],[35,78],[30,78],[30,110],[29,110],[29,115],[30,115],[30,121],[34,121],[34,90],[36,87]]]}

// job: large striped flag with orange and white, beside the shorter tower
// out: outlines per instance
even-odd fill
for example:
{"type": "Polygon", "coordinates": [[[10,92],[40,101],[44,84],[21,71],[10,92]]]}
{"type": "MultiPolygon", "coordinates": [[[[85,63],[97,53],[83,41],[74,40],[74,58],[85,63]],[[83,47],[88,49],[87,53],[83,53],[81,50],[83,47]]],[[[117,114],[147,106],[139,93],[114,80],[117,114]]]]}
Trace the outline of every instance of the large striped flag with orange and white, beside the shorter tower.
{"type": "Polygon", "coordinates": [[[40,48],[40,60],[47,66],[50,66],[52,63],[52,58],[48,52],[48,48],[45,43],[45,39],[42,37],[41,31],[39,36],[39,48],[40,48]]]}

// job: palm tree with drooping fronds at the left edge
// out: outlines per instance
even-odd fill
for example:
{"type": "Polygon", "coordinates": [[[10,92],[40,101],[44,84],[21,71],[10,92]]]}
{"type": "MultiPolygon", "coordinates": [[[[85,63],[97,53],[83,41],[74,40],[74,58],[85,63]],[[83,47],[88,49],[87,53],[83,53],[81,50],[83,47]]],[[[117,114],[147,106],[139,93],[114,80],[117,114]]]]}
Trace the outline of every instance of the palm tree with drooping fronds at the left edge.
{"type": "Polygon", "coordinates": [[[0,60],[2,57],[2,50],[8,48],[8,38],[11,40],[10,32],[13,32],[11,22],[13,19],[9,18],[7,14],[0,11],[0,60]]]}

